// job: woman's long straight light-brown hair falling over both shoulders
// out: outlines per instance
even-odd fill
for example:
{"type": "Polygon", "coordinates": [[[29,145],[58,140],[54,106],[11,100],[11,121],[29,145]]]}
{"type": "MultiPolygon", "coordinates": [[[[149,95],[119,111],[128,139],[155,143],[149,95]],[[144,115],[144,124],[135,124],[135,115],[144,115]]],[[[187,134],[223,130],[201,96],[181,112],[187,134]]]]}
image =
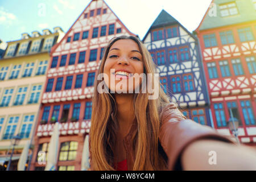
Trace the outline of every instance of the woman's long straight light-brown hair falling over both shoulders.
{"type": "MultiPolygon", "coordinates": [[[[150,53],[144,44],[134,36],[119,36],[110,40],[104,51],[98,74],[104,72],[104,64],[109,49],[121,39],[131,39],[138,44],[142,53],[144,73],[156,73],[156,65],[152,61],[150,53]]],[[[95,79],[92,98],[92,120],[90,127],[90,157],[92,170],[115,170],[116,162],[114,152],[116,142],[117,121],[113,121],[111,114],[116,116],[117,105],[111,93],[98,93],[97,88],[101,80],[95,79]]],[[[163,170],[167,168],[166,156],[159,152],[160,115],[163,107],[170,104],[170,97],[164,93],[159,82],[159,97],[156,100],[148,100],[148,93],[134,93],[133,106],[137,119],[137,130],[133,135],[133,151],[135,155],[133,170],[163,170]]],[[[117,154],[115,154],[117,155],[117,154]]]]}

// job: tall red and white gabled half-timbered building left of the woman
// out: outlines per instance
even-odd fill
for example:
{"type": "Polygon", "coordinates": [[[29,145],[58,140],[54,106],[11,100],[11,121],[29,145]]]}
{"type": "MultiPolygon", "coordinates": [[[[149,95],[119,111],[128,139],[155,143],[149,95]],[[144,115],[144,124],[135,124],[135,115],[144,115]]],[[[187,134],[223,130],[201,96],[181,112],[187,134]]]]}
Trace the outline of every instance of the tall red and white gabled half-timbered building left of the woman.
{"type": "Polygon", "coordinates": [[[103,0],[91,1],[51,51],[30,170],[44,170],[40,151],[48,152],[55,122],[60,123],[58,170],[80,170],[89,133],[94,78],[106,44],[115,36],[134,35],[103,0]]]}

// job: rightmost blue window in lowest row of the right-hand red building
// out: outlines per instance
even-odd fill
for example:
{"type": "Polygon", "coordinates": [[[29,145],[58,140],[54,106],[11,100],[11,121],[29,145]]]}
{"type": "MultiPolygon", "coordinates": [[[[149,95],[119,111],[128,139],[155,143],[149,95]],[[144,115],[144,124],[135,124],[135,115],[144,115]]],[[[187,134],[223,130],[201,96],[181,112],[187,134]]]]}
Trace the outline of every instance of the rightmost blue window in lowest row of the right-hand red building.
{"type": "Polygon", "coordinates": [[[243,118],[245,118],[245,125],[255,125],[254,112],[251,108],[250,101],[240,101],[242,107],[243,118]]]}

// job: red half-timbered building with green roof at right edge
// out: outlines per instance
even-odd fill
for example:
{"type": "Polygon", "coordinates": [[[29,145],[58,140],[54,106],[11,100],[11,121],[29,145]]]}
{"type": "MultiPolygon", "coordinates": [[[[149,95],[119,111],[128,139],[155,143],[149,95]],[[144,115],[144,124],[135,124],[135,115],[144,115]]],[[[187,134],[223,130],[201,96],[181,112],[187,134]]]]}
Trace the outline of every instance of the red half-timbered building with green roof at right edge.
{"type": "Polygon", "coordinates": [[[196,33],[207,78],[214,128],[256,146],[256,14],[251,1],[212,1],[196,33]],[[250,7],[250,8],[248,8],[250,7]]]}

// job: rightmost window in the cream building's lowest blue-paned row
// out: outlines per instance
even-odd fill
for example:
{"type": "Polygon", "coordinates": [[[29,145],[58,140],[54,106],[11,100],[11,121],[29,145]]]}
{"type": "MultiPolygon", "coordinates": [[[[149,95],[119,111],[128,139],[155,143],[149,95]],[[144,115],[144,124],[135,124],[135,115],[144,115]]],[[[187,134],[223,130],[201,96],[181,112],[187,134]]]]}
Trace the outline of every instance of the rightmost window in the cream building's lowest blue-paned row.
{"type": "Polygon", "coordinates": [[[32,125],[34,122],[35,115],[30,114],[30,115],[24,115],[23,121],[22,121],[22,127],[20,130],[20,138],[29,138],[30,137],[30,132],[32,129],[32,125]]]}

